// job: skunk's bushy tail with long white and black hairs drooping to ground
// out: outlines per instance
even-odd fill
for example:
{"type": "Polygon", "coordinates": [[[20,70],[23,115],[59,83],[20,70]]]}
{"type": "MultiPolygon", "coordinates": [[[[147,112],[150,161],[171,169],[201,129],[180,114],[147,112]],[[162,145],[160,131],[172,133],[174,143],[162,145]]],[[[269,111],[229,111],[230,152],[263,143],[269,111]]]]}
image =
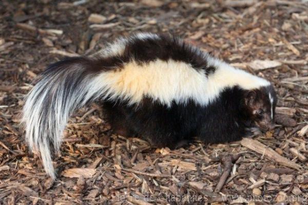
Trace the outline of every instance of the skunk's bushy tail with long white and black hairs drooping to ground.
{"type": "Polygon", "coordinates": [[[89,58],[68,58],[50,65],[26,97],[23,123],[30,150],[39,151],[47,174],[55,178],[51,149],[59,151],[72,111],[106,94],[101,65],[89,58]]]}

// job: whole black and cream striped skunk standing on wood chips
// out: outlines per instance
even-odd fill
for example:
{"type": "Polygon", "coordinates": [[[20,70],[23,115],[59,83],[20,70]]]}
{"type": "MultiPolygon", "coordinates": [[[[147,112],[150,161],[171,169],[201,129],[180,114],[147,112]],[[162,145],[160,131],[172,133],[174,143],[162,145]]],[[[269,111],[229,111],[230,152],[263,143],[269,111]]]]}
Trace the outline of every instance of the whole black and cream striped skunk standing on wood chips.
{"type": "Polygon", "coordinates": [[[268,81],[174,36],[120,38],[50,65],[26,98],[26,140],[53,179],[51,150],[59,151],[73,111],[93,101],[115,133],[175,148],[195,136],[219,143],[240,140],[248,127],[272,129],[277,98],[268,81]]]}

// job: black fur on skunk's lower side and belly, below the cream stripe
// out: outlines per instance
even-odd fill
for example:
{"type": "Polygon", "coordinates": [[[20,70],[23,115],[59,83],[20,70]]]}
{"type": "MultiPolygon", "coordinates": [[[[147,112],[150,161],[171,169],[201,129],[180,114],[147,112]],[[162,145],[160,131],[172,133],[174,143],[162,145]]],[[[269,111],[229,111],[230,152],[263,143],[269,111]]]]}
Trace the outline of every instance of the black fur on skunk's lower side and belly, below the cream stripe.
{"type": "Polygon", "coordinates": [[[115,132],[126,136],[139,135],[158,147],[175,148],[181,141],[194,137],[219,143],[240,140],[245,135],[246,121],[242,99],[245,90],[226,88],[208,106],[193,101],[172,103],[170,107],[145,99],[142,104],[105,102],[104,108],[115,132]]]}

